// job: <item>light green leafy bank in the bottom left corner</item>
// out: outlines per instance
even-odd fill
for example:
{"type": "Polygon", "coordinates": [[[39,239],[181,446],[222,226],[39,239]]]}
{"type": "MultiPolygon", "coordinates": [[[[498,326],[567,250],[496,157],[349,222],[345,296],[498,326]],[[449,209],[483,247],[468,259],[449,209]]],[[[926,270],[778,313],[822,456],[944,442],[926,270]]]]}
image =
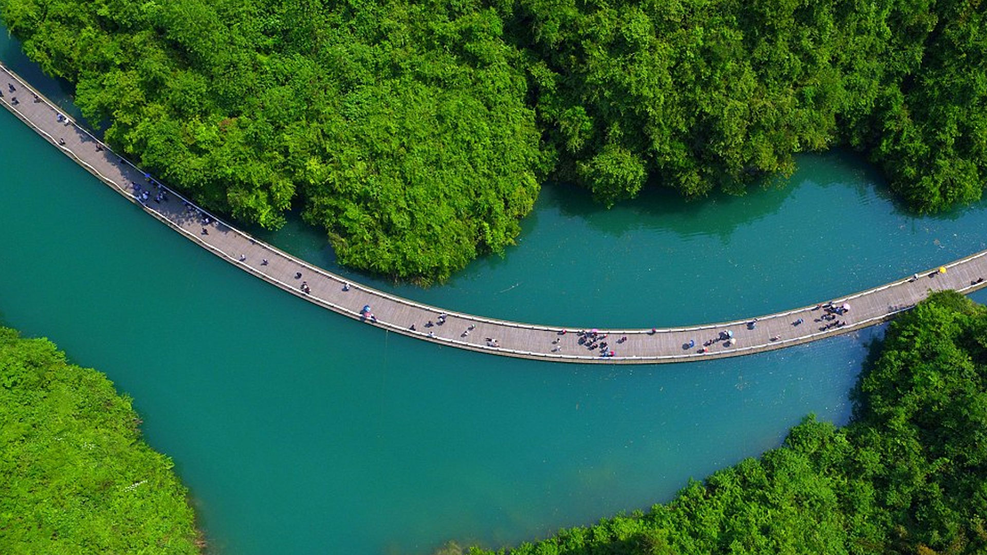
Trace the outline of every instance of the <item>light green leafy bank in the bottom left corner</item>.
{"type": "Polygon", "coordinates": [[[139,423],[104,374],[0,328],[0,553],[198,553],[186,489],[139,423]]]}

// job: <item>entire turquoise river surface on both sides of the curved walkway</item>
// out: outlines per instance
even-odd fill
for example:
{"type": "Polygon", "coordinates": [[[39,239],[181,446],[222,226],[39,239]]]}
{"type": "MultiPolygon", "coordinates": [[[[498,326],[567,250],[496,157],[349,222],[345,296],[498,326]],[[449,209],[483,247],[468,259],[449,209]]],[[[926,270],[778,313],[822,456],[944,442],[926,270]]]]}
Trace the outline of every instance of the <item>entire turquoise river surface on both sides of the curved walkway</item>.
{"type": "MultiPolygon", "coordinates": [[[[16,44],[0,58],[37,79],[16,44]]],[[[646,509],[777,446],[807,413],[846,422],[878,333],[634,367],[427,345],[221,262],[6,111],[0,137],[0,318],[133,397],[213,553],[498,546],[646,509]]],[[[502,318],[650,327],[813,303],[985,248],[983,203],[916,218],[853,155],[798,168],[784,189],[609,211],[554,186],[506,257],[429,289],[377,284],[502,318]]],[[[266,238],[339,270],[316,231],[266,238]]]]}

